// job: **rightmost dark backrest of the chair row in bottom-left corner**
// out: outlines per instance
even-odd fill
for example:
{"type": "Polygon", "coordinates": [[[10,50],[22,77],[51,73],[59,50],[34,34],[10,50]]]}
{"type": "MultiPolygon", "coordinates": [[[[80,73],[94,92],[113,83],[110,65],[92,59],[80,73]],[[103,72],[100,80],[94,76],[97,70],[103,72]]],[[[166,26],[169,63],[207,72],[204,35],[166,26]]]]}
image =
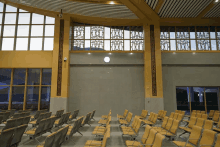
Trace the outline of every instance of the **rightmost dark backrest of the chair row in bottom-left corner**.
{"type": "Polygon", "coordinates": [[[11,146],[21,142],[21,138],[27,127],[28,127],[27,124],[16,127],[12,141],[11,141],[11,146]]]}

